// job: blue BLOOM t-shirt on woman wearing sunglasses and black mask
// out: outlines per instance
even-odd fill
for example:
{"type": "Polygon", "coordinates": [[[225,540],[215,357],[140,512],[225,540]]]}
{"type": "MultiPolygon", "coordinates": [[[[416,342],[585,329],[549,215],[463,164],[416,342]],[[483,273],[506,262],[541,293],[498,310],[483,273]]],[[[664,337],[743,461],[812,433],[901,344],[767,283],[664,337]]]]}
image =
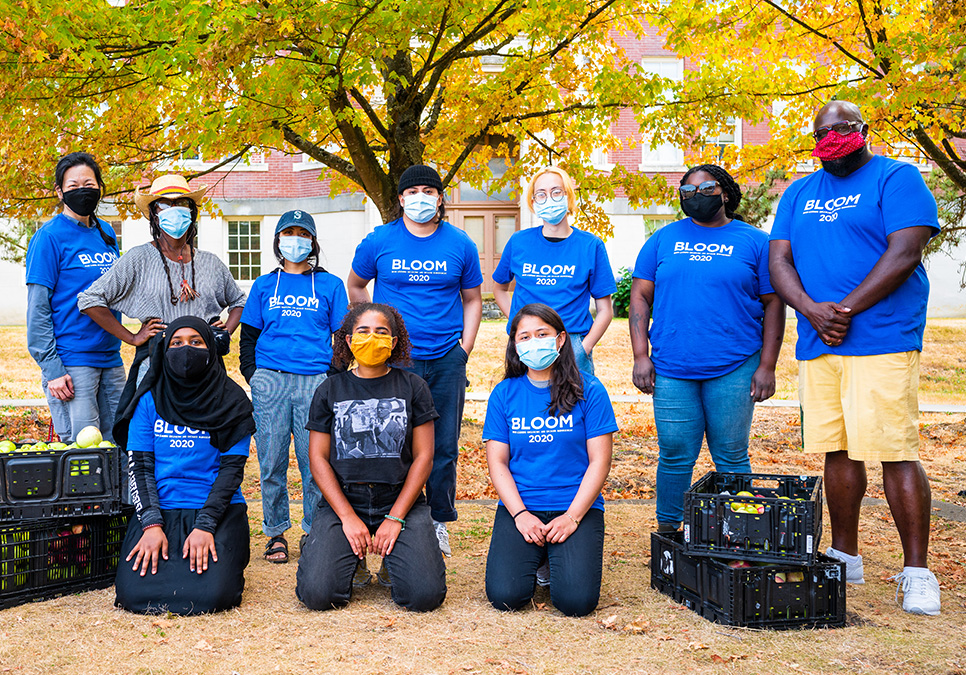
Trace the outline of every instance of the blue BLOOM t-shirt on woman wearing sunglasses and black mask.
{"type": "Polygon", "coordinates": [[[705,380],[730,373],[761,349],[760,296],[774,293],[768,235],[740,220],[670,223],[644,242],[634,277],[654,282],[649,332],[654,370],[705,380]]]}

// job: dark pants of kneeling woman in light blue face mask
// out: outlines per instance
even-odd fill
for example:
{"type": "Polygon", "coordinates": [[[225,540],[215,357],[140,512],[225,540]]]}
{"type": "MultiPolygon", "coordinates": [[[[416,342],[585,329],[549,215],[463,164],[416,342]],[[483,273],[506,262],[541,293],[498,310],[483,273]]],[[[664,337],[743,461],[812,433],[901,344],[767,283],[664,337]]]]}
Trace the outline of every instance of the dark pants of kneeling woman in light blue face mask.
{"type": "MultiPolygon", "coordinates": [[[[564,511],[531,511],[544,523],[564,511]]],[[[600,600],[604,564],[604,512],[590,509],[580,526],[560,544],[531,544],[523,538],[505,506],[496,510],[486,557],[486,597],[497,609],[530,604],[537,568],[550,564],[550,601],[567,616],[586,616],[600,600]]]]}

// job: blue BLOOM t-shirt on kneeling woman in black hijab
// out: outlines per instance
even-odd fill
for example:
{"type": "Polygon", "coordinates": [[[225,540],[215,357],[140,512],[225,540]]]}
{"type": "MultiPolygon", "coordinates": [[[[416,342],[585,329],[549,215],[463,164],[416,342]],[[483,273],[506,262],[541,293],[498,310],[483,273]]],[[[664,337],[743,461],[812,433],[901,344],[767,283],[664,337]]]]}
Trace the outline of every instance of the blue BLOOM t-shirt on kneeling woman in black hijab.
{"type": "MultiPolygon", "coordinates": [[[[251,440],[251,436],[245,436],[224,454],[248,457],[251,440]]],[[[138,401],[131,417],[128,448],[154,453],[154,478],[162,509],[200,509],[205,505],[222,455],[211,444],[207,431],[165,422],[154,407],[154,396],[148,392],[138,401]]],[[[231,503],[245,503],[240,487],[231,503]]]]}

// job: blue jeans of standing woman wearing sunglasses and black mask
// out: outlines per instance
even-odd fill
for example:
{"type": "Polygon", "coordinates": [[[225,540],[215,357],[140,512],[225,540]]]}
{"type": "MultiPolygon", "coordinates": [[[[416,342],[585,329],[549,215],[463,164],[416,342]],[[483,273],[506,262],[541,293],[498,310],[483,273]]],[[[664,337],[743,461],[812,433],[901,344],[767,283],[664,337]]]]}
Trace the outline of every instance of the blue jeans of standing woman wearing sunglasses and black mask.
{"type": "Polygon", "coordinates": [[[658,523],[677,524],[684,518],[684,493],[691,487],[705,436],[716,470],[751,472],[748,434],[755,412],[751,378],[760,359],[761,352],[752,354],[730,373],[709,380],[655,378],[658,523]]]}

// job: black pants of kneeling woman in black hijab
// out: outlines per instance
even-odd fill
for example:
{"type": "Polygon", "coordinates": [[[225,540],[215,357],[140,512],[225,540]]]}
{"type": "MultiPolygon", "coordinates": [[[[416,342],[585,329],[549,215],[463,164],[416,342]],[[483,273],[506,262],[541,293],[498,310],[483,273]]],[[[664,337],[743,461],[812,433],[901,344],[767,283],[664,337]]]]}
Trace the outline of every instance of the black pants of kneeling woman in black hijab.
{"type": "Polygon", "coordinates": [[[140,569],[137,572],[132,569],[133,562],[127,562],[125,558],[141,539],[141,523],[132,518],[117,567],[114,604],[139,614],[171,612],[183,616],[220,612],[241,604],[245,567],[251,555],[248,506],[228,505],[225,517],[215,530],[218,562],[209,558],[208,569],[202,574],[192,572],[188,560],[181,557],[198,511],[167,509],[161,514],[164,516],[164,534],[168,538],[168,559],[161,558],[158,562],[157,574],[148,570],[142,577],[140,569]]]}

